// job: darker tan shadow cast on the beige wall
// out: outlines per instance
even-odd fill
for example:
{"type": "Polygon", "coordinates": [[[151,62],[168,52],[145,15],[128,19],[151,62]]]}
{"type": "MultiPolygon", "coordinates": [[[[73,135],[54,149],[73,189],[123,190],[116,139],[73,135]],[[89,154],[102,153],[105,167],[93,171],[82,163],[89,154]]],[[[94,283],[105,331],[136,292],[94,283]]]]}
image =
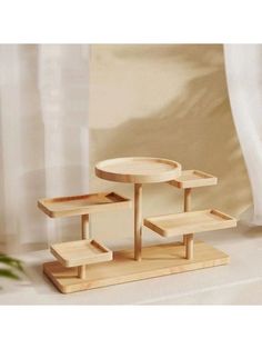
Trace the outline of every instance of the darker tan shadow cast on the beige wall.
{"type": "MultiPolygon", "coordinates": [[[[202,68],[212,56],[206,46],[172,47],[174,49],[169,54],[174,54],[177,60],[179,57],[202,68]]],[[[215,47],[215,50],[223,54],[222,47],[215,47]]],[[[216,187],[195,190],[194,208],[216,207],[231,215],[240,215],[251,203],[250,185],[232,122],[223,62],[221,60],[211,67],[209,72],[200,72],[192,78],[179,97],[158,111],[129,119],[115,128],[91,129],[90,143],[95,144],[91,147],[91,168],[97,161],[114,157],[174,159],[183,169],[201,169],[219,178],[216,187]]],[[[100,182],[92,173],[92,186],[97,185],[100,182]]],[[[109,186],[118,190],[117,186],[109,186]]],[[[150,187],[157,196],[167,191],[167,203],[161,201],[163,206],[159,213],[170,210],[170,200],[175,200],[175,197],[181,200],[174,189],[165,187],[150,187]]],[[[148,215],[154,213],[155,201],[148,198],[144,206],[148,215]]]]}

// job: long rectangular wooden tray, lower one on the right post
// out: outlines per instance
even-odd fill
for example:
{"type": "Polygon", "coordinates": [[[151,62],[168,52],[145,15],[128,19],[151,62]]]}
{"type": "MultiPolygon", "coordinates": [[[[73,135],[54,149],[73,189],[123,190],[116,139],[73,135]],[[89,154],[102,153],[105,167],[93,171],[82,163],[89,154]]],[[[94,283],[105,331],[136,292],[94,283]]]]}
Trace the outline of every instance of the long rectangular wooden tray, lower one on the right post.
{"type": "Polygon", "coordinates": [[[144,226],[162,237],[236,227],[236,220],[214,209],[158,216],[144,219],[144,226]]]}

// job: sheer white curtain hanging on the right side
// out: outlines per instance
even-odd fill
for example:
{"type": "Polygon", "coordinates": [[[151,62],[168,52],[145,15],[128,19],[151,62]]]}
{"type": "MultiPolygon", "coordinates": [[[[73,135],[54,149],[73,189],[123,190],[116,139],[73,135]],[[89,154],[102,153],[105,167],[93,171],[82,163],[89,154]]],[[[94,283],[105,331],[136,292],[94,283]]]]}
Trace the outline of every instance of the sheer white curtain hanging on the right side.
{"type": "MultiPolygon", "coordinates": [[[[262,44],[225,44],[231,109],[253,193],[250,222],[262,225],[262,44]]],[[[238,199],[238,195],[236,195],[238,199]]]]}

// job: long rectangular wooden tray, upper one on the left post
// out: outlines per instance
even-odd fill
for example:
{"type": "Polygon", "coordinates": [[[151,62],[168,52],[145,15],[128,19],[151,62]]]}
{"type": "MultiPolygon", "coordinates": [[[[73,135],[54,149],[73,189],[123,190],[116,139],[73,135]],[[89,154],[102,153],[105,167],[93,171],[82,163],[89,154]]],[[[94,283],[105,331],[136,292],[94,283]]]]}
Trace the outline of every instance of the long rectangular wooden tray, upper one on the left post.
{"type": "Polygon", "coordinates": [[[117,192],[98,192],[75,197],[38,200],[38,207],[51,218],[131,208],[131,200],[117,192]]]}

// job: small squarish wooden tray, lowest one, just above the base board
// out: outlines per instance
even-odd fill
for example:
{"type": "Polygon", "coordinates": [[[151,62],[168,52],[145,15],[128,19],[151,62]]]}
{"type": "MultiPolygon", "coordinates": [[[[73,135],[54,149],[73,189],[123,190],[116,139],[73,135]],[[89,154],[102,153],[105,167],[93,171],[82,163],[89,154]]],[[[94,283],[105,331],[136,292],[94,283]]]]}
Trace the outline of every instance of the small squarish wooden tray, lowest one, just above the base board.
{"type": "Polygon", "coordinates": [[[95,240],[77,240],[56,243],[52,255],[67,268],[112,260],[112,251],[95,240]]]}

